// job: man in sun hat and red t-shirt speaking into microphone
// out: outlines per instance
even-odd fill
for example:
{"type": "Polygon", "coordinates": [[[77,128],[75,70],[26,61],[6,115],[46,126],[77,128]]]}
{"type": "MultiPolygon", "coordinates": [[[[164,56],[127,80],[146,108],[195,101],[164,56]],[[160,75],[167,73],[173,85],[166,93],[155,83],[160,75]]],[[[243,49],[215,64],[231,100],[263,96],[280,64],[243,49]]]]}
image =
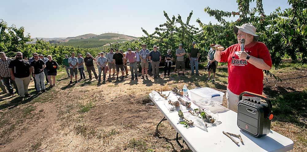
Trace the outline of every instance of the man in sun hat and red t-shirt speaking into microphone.
{"type": "MultiPolygon", "coordinates": [[[[237,112],[239,94],[249,91],[262,94],[263,72],[270,70],[272,60],[268,48],[258,42],[256,28],[251,24],[234,26],[238,43],[229,46],[226,50],[216,50],[214,59],[217,62],[228,62],[228,86],[226,92],[228,109],[237,112]],[[240,41],[245,39],[244,51],[241,51],[240,41]]],[[[216,48],[220,45],[216,45],[216,48]]],[[[243,98],[251,98],[244,97],[243,98]]],[[[260,98],[252,97],[259,101],[260,98]]]]}

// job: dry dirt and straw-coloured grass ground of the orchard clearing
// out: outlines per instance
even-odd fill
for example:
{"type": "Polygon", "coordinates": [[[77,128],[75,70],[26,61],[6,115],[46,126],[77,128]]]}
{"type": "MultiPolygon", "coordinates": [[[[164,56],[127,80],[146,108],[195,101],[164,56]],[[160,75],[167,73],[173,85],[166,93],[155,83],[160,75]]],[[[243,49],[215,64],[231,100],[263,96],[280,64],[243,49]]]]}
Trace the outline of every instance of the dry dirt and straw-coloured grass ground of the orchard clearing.
{"type": "MultiPolygon", "coordinates": [[[[281,79],[294,78],[306,75],[306,70],[290,68],[275,74],[281,79]]],[[[57,86],[38,95],[31,82],[33,97],[24,101],[18,100],[17,95],[1,94],[0,151],[189,151],[187,145],[183,149],[177,146],[176,131],[167,121],[159,126],[160,135],[155,133],[163,115],[156,106],[146,105],[151,103],[148,94],[152,90],[182,88],[183,84],[188,89],[211,87],[226,92],[227,66],[219,67],[215,83],[206,81],[205,70],[200,70],[200,76],[173,73],[159,79],[139,77],[138,81],[107,77],[107,82],[101,85],[95,79],[69,85],[66,77],[66,72],[59,71],[57,86]]],[[[264,85],[263,92],[271,98],[299,92],[307,86],[306,77],[274,80],[264,78],[264,83],[271,83],[264,85]]],[[[227,107],[225,95],[223,106],[227,107]]],[[[302,142],[306,137],[300,133],[306,131],[305,127],[274,118],[271,129],[294,141],[292,151],[307,151],[307,143],[302,142]]]]}

